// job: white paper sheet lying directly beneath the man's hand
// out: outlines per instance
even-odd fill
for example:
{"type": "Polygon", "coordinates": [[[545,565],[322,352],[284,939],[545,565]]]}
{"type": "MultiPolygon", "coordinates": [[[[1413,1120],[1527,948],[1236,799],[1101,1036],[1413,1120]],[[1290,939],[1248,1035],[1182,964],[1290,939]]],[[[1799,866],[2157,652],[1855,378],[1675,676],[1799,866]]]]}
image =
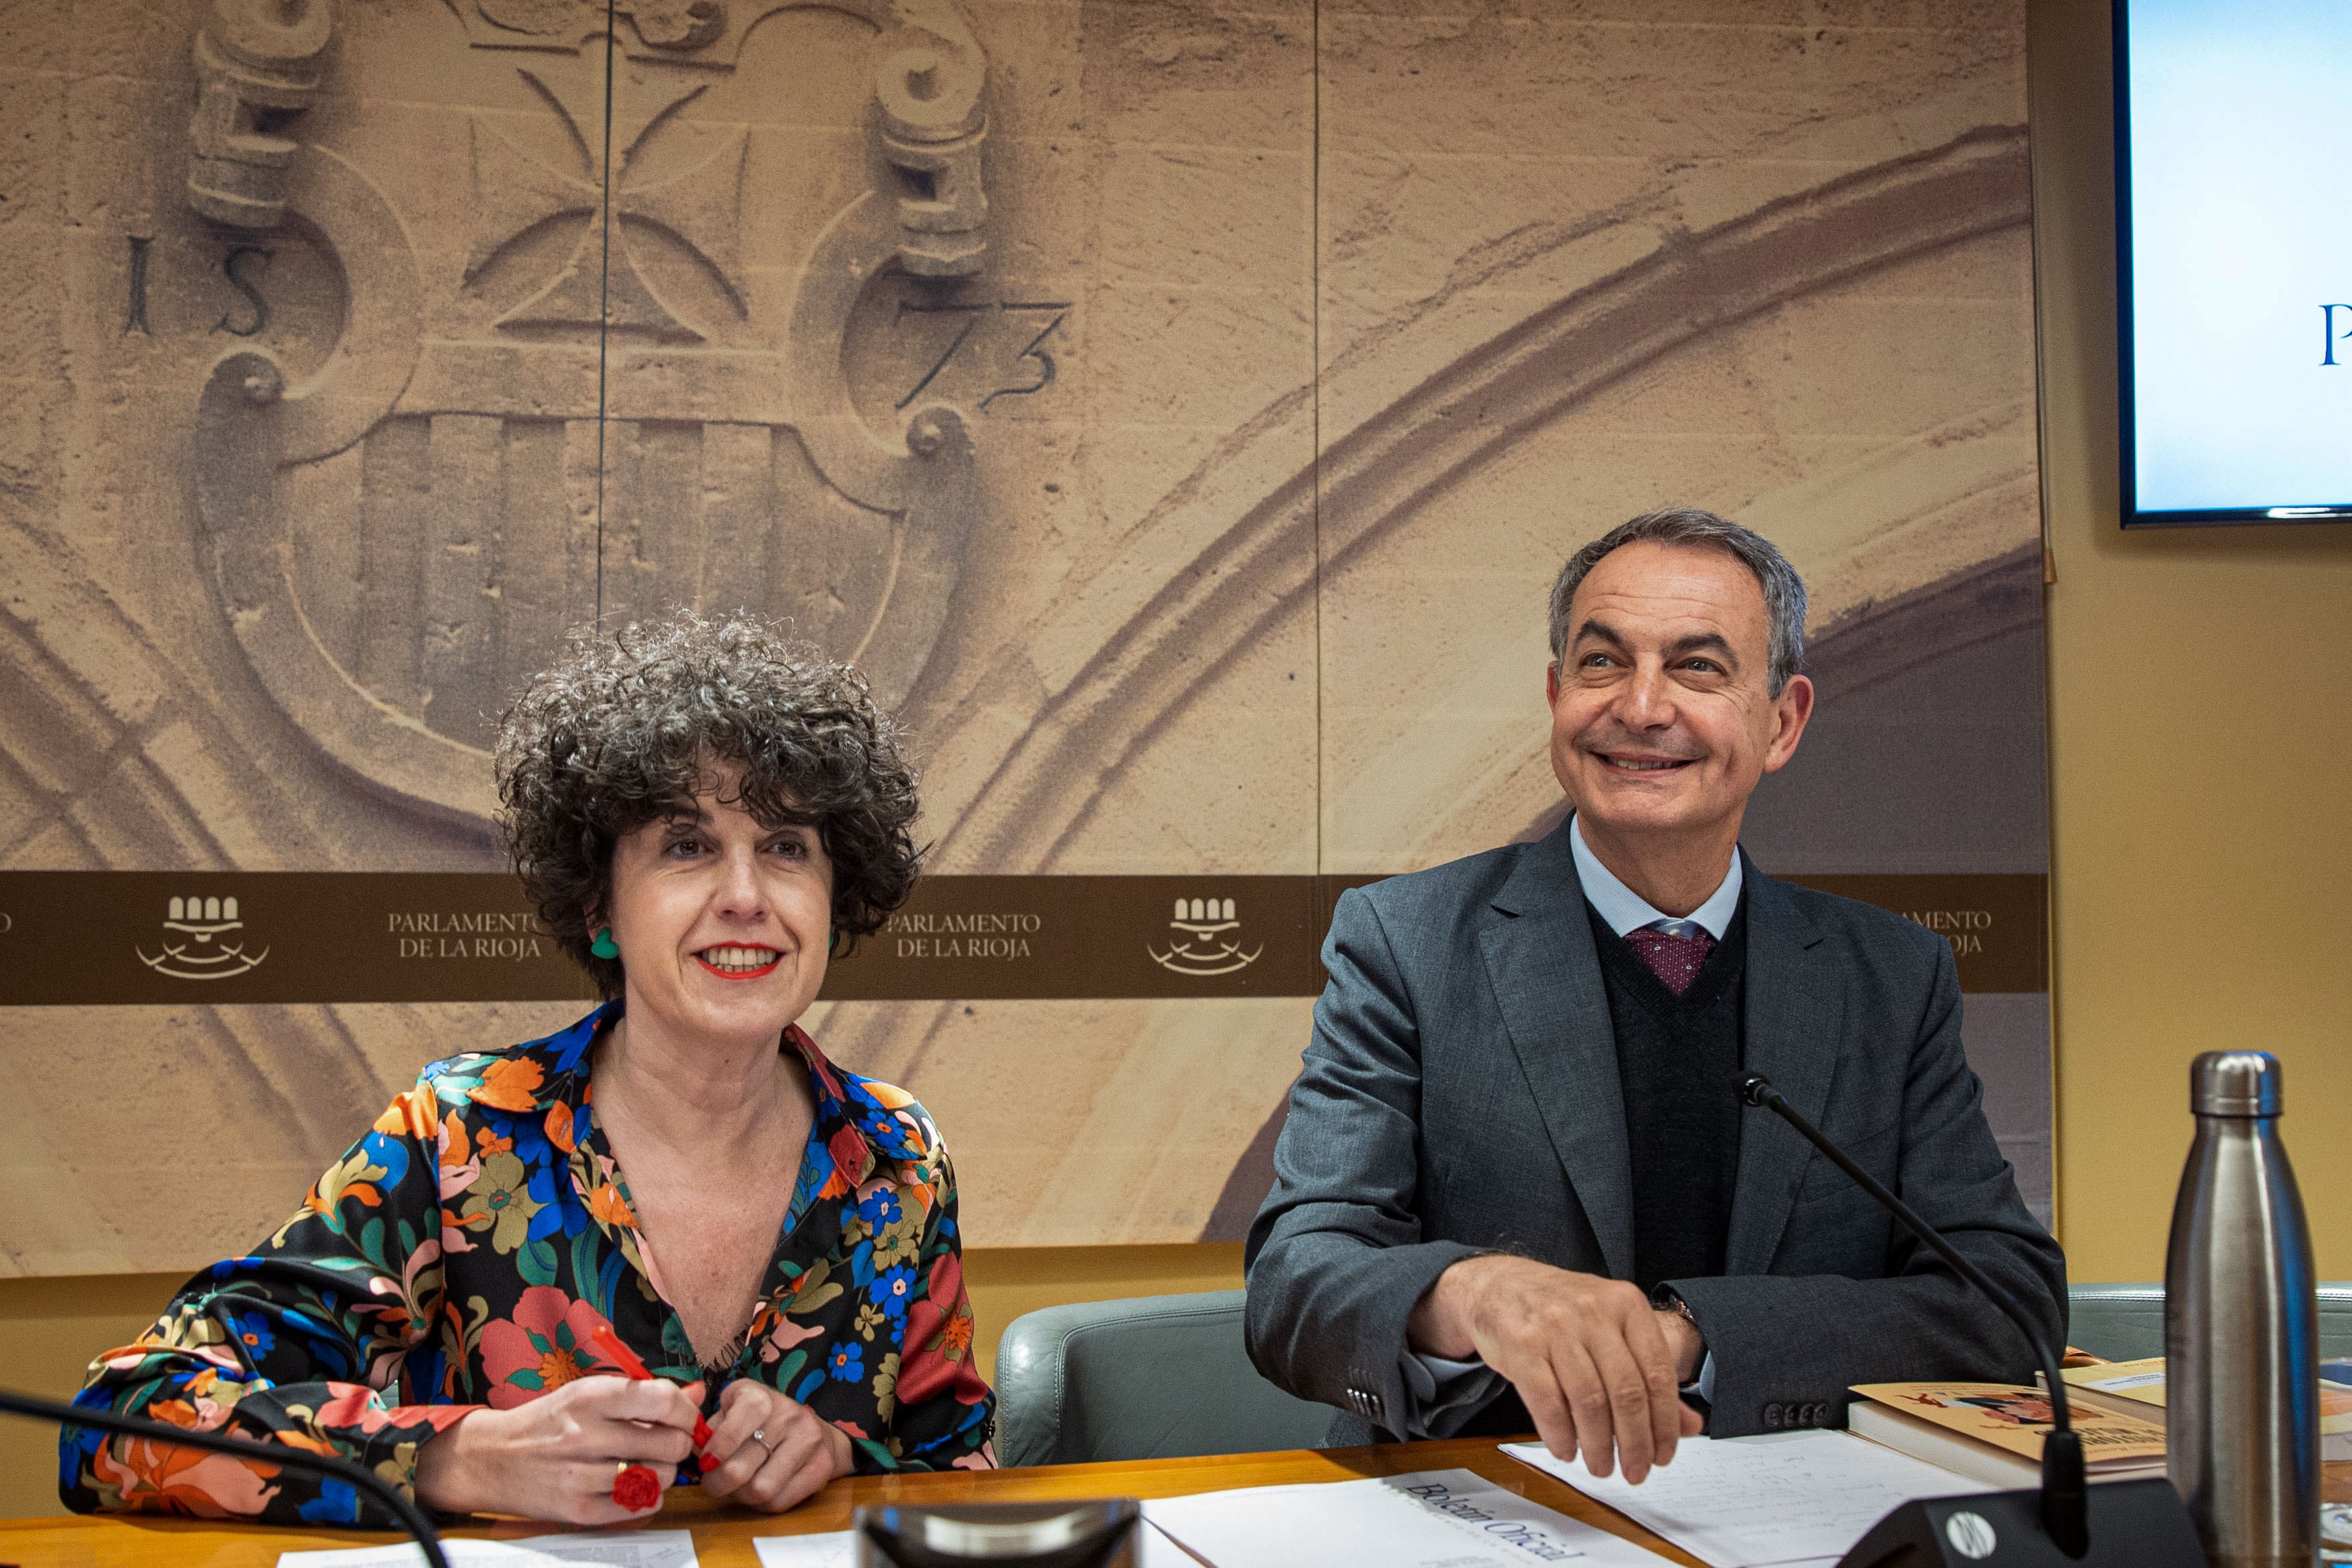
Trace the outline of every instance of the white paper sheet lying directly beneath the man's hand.
{"type": "Polygon", "coordinates": [[[1503,1443],[1503,1453],[1559,1476],[1715,1568],[1835,1561],[1912,1497],[1992,1490],[1846,1432],[1686,1436],[1675,1462],[1649,1472],[1642,1486],[1625,1486],[1623,1474],[1597,1481],[1583,1460],[1555,1460],[1543,1443],[1503,1443]]]}

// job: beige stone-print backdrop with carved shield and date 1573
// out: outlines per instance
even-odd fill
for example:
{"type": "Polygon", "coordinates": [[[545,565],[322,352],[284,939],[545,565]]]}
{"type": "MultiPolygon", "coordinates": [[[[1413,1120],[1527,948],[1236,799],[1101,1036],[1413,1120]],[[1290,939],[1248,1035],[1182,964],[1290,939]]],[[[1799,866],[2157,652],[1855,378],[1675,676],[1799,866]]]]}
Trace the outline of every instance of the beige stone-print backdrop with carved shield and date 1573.
{"type": "MultiPolygon", "coordinates": [[[[341,0],[240,230],[247,9],[5,19],[0,867],[494,870],[485,726],[602,592],[858,656],[941,872],[1409,870],[1545,823],[1550,574],[1691,501],[1816,595],[1766,867],[2046,870],[2020,5],[649,0],[607,202],[602,5],[341,0]],[[908,52],[985,113],[917,176],[908,52]]],[[[809,1023],[1047,1246],[1232,1234],[1308,1009],[809,1023]]],[[[569,1011],[7,1011],[0,1272],[240,1248],[569,1011]]],[[[1969,1046],[2046,1204],[2046,999],[1969,1046]]]]}

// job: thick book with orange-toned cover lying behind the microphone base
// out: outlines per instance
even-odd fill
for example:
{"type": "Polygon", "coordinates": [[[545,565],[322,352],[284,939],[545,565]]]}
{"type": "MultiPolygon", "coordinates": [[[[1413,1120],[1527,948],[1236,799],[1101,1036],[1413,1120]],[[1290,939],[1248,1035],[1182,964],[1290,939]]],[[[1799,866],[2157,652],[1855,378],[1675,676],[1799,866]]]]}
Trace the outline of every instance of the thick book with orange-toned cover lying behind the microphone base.
{"type": "MultiPolygon", "coordinates": [[[[2042,1436],[2051,1401],[2013,1382],[1863,1382],[1846,1408],[1846,1429],[1929,1465],[2020,1488],[2042,1479],[2042,1436]]],[[[2091,1481],[2138,1481],[2164,1474],[2164,1422],[2122,1410],[2072,1410],[2091,1481]]]]}

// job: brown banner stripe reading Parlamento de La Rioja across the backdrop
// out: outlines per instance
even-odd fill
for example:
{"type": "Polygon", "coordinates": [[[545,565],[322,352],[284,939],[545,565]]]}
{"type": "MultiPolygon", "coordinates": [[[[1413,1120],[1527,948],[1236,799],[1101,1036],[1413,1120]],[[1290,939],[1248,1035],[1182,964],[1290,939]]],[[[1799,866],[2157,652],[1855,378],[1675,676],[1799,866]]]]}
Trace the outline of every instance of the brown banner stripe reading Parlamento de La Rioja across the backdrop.
{"type": "MultiPolygon", "coordinates": [[[[929,877],[837,1001],[1312,997],[1378,877],[929,877]]],[[[1792,877],[1952,943],[1962,990],[2049,987],[2037,875],[1792,877]]],[[[588,997],[506,875],[0,872],[0,1006],[588,997]]]]}

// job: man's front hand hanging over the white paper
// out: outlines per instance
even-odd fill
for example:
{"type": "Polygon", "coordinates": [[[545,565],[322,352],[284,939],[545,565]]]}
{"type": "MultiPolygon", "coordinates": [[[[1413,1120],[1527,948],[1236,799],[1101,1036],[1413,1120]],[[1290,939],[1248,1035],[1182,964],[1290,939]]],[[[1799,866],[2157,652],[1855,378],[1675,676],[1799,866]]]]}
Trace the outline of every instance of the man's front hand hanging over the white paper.
{"type": "Polygon", "coordinates": [[[1677,1394],[1698,1373],[1698,1331],[1623,1279],[1531,1258],[1463,1258],[1414,1305],[1406,1340],[1456,1361],[1475,1354],[1503,1373],[1543,1446],[1562,1460],[1583,1450],[1595,1476],[1609,1474],[1613,1453],[1639,1483],[1703,1425],[1677,1394]]]}

